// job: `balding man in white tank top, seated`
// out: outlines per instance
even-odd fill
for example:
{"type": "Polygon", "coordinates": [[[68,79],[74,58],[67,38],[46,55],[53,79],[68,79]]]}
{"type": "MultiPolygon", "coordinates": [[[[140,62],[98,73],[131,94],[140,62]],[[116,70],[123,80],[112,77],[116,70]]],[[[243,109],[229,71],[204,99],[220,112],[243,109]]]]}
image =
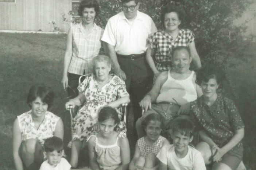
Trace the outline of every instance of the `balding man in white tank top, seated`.
{"type": "Polygon", "coordinates": [[[201,87],[195,83],[196,74],[189,70],[192,61],[189,49],[176,47],[172,56],[172,70],[160,73],[153,88],[140,101],[144,114],[136,122],[139,138],[144,135],[141,121],[148,114],[161,114],[168,123],[179,113],[189,112],[190,102],[202,96],[201,87]]]}

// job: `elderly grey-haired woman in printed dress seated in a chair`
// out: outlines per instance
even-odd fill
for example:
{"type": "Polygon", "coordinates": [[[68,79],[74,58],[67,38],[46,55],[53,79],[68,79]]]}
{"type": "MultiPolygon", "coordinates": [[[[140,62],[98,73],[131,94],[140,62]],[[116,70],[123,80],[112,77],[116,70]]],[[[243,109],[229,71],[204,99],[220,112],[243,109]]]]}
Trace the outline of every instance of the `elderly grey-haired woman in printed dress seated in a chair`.
{"type": "MultiPolygon", "coordinates": [[[[112,61],[107,56],[93,58],[94,73],[85,76],[85,80],[78,86],[77,97],[66,103],[69,106],[81,106],[77,116],[73,119],[71,161],[73,167],[77,167],[78,155],[83,141],[86,141],[93,132],[93,126],[97,123],[98,112],[104,106],[116,108],[121,119],[121,104],[129,103],[129,94],[125,88],[125,82],[119,77],[109,74],[112,61]]],[[[116,131],[126,131],[124,122],[120,122],[116,131]]]]}

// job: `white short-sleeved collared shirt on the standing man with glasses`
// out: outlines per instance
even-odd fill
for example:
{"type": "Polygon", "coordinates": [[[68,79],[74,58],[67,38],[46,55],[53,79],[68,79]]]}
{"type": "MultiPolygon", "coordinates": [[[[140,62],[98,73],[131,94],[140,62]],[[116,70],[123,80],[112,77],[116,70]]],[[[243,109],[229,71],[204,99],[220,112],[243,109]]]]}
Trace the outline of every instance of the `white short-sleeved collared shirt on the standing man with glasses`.
{"type": "Polygon", "coordinates": [[[124,12],[120,12],[108,20],[101,40],[115,46],[118,54],[141,54],[148,48],[148,36],[156,31],[150,16],[137,11],[137,16],[131,23],[124,12]]]}

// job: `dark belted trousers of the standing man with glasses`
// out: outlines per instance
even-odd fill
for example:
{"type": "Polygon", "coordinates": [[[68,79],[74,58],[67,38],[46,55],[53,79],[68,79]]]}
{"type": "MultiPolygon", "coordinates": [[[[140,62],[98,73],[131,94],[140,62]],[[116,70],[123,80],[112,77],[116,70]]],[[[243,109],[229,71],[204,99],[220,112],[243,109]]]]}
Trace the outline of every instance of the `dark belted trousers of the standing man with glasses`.
{"type": "Polygon", "coordinates": [[[141,117],[141,108],[139,102],[151,90],[152,87],[153,74],[149,65],[147,64],[145,56],[146,53],[135,57],[132,57],[131,55],[121,56],[117,54],[117,60],[120,68],[126,75],[125,85],[131,97],[134,117],[133,128],[135,128],[135,122],[137,119],[141,117]]]}

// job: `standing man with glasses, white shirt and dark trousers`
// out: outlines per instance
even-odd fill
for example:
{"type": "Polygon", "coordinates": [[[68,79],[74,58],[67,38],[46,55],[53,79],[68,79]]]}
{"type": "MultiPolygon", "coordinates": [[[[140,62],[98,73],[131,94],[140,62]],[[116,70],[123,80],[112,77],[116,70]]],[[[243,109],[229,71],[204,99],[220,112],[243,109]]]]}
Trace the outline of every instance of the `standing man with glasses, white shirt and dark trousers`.
{"type": "Polygon", "coordinates": [[[139,0],[122,0],[123,11],[108,20],[101,39],[115,74],[125,81],[131,96],[134,126],[141,116],[139,101],[152,86],[152,71],[145,58],[147,37],[157,31],[150,16],[138,11],[139,6],[139,0]]]}

